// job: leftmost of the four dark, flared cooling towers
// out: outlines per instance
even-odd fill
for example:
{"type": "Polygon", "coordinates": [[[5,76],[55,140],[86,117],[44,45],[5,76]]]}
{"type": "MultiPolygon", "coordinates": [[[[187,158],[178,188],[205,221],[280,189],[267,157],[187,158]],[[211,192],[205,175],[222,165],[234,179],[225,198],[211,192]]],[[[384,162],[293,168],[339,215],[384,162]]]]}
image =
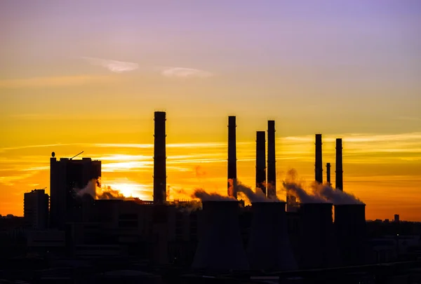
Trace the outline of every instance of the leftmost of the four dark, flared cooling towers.
{"type": "Polygon", "coordinates": [[[248,269],[239,228],[239,203],[202,201],[194,269],[248,269]]]}

